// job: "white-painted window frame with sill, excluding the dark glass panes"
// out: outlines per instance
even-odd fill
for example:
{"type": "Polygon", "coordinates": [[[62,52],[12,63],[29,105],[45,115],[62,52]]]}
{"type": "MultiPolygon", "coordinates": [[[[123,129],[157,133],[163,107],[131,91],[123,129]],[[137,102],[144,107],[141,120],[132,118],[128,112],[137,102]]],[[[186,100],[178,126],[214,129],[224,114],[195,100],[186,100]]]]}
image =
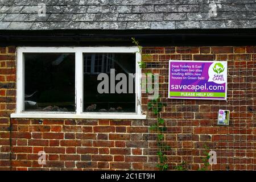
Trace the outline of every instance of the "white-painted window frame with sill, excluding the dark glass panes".
{"type": "Polygon", "coordinates": [[[16,112],[11,118],[74,118],[74,119],[146,119],[141,110],[141,54],[138,47],[18,47],[16,49],[16,112]],[[75,112],[24,111],[24,57],[23,53],[75,53],[75,112]],[[84,61],[82,53],[135,53],[136,81],[134,113],[83,112],[84,61]]]}

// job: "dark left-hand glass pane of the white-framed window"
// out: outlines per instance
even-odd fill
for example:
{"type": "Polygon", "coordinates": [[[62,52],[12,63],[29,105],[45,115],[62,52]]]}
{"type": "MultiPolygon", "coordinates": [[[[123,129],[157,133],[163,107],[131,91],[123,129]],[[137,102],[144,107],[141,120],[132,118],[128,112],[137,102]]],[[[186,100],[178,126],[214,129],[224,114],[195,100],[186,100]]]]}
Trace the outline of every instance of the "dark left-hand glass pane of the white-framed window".
{"type": "Polygon", "coordinates": [[[25,111],[75,111],[75,53],[24,53],[25,111]]]}

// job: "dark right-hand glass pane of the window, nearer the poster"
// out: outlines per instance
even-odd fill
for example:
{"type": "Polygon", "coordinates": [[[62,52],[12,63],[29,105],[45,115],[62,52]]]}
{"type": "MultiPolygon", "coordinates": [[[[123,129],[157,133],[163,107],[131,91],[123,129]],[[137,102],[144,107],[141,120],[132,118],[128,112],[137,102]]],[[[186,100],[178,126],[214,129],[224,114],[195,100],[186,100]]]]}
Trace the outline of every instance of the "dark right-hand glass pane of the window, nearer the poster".
{"type": "MultiPolygon", "coordinates": [[[[85,112],[126,112],[134,113],[135,107],[135,53],[84,53],[84,65],[88,57],[92,58],[90,73],[88,69],[84,69],[84,111],[85,112]],[[114,80],[110,78],[110,69],[114,71],[114,80]],[[98,92],[98,84],[105,82],[105,78],[97,80],[100,73],[105,73],[108,77],[108,92],[98,92]],[[118,82],[123,80],[115,80],[118,73],[123,73],[126,77],[125,84],[121,84],[122,93],[117,92],[114,88],[114,93],[110,93],[110,82],[118,82]],[[130,84],[129,84],[130,75],[130,84]],[[124,86],[125,85],[125,86],[124,86]],[[130,88],[129,88],[130,85],[130,88]],[[125,89],[126,87],[126,89],[125,89]],[[125,92],[126,90],[126,92],[125,92]],[[129,92],[130,90],[130,92],[129,92]]],[[[105,83],[106,83],[105,82],[105,83]]],[[[106,84],[105,84],[106,85],[106,84]]],[[[105,88],[102,86],[101,88],[105,88]]]]}

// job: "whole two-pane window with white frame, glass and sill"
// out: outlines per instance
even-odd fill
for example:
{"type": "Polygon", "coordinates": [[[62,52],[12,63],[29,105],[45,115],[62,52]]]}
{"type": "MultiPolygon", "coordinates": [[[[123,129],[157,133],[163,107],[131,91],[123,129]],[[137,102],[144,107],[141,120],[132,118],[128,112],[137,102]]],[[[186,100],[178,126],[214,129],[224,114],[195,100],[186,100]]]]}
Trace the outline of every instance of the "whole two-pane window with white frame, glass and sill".
{"type": "Polygon", "coordinates": [[[13,118],[145,119],[137,47],[19,47],[13,118]]]}

